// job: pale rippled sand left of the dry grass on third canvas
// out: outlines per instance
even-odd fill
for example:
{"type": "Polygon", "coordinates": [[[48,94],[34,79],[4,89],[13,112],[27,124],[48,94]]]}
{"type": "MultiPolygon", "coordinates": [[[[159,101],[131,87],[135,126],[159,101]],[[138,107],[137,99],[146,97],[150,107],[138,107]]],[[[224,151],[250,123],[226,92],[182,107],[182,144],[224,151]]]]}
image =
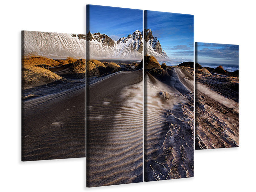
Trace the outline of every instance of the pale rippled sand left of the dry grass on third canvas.
{"type": "MultiPolygon", "coordinates": [[[[158,81],[155,77],[146,74],[145,81],[145,143],[144,143],[144,173],[145,181],[157,180],[153,177],[152,168],[164,172],[161,164],[165,164],[163,143],[170,128],[166,125],[166,111],[175,111],[182,114],[180,102],[186,99],[172,87],[158,81]],[[159,92],[167,92],[169,99],[165,99],[159,92]],[[161,164],[158,164],[158,163],[161,164]],[[151,167],[152,166],[152,167],[151,167]]],[[[165,169],[165,168],[164,168],[165,169]]],[[[158,174],[158,173],[157,173],[158,174]]]]}

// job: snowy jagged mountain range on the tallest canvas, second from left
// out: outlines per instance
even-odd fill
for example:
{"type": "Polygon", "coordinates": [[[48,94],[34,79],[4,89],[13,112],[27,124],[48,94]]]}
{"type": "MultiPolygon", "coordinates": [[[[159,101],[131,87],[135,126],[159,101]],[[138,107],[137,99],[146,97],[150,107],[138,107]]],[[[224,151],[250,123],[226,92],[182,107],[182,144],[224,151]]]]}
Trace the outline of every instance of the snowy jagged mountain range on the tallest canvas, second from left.
{"type": "Polygon", "coordinates": [[[139,30],[117,41],[114,41],[105,34],[91,34],[90,31],[86,37],[88,59],[142,60],[143,58],[143,34],[139,30]]]}

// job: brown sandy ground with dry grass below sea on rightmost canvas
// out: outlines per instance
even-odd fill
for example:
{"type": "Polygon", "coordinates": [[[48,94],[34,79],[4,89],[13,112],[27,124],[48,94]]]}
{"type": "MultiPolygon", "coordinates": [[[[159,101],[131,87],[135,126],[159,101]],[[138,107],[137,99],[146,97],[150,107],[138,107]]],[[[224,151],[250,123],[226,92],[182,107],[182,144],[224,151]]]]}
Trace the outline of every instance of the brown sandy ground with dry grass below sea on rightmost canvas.
{"type": "Polygon", "coordinates": [[[239,147],[239,78],[211,74],[196,74],[196,149],[239,147]]]}

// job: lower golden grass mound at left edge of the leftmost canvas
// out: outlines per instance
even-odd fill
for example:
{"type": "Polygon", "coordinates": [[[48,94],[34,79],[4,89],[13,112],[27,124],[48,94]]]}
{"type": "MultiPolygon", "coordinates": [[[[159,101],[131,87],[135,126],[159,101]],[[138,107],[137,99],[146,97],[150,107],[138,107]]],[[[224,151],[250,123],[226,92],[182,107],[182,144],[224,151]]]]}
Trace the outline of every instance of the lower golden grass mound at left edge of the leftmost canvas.
{"type": "Polygon", "coordinates": [[[57,81],[61,76],[41,67],[26,66],[22,68],[22,85],[44,84],[45,82],[57,81]]]}

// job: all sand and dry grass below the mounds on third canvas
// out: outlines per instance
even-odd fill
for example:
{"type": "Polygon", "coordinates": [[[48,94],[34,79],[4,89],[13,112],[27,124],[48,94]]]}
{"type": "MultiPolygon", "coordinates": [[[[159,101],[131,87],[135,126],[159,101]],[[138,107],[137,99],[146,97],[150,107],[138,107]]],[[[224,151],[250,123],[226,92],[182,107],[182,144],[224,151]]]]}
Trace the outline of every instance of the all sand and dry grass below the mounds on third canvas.
{"type": "Polygon", "coordinates": [[[164,81],[145,73],[145,181],[194,176],[194,76],[170,68],[164,81]]]}

